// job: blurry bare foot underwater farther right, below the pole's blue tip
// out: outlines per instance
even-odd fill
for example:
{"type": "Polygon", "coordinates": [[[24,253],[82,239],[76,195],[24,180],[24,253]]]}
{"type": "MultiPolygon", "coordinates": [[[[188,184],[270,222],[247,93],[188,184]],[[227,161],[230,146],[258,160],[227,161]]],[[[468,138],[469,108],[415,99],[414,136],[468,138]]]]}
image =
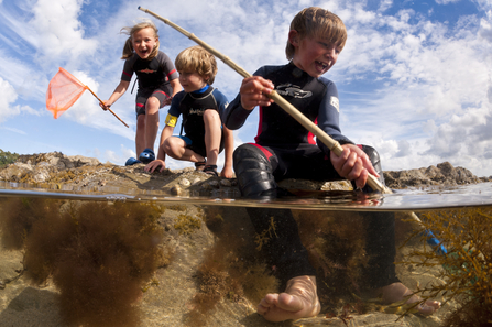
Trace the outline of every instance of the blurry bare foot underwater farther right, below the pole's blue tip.
{"type": "MultiPolygon", "coordinates": [[[[379,288],[378,292],[379,294],[381,294],[382,301],[386,304],[404,301],[405,297],[413,294],[413,292],[402,283],[390,284],[387,286],[379,288]]],[[[419,301],[422,301],[419,296],[412,295],[406,301],[406,303],[412,304],[419,301]]],[[[427,299],[423,304],[415,307],[415,309],[417,309],[419,314],[426,316],[434,314],[438,308],[440,308],[440,302],[433,299],[427,299]]]]}

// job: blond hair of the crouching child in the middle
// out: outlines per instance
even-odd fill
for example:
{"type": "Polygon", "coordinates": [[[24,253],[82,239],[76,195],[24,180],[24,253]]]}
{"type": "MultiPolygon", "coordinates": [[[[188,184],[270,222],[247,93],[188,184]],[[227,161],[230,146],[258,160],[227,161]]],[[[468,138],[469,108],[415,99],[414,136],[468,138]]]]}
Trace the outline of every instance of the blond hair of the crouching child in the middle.
{"type": "Polygon", "coordinates": [[[217,75],[216,57],[199,45],[182,51],[174,63],[177,72],[196,72],[212,85],[217,75]],[[207,79],[208,77],[208,79],[207,79]]]}

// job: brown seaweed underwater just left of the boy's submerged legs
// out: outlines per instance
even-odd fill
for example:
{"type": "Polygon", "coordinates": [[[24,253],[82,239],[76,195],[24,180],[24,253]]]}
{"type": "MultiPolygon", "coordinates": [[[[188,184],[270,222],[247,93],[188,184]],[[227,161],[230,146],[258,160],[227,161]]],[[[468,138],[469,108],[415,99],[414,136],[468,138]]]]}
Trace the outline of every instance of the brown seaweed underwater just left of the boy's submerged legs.
{"type": "MultiPolygon", "coordinates": [[[[197,270],[198,290],[190,303],[186,324],[205,326],[222,301],[259,303],[266,293],[277,292],[278,281],[269,273],[255,251],[252,226],[240,227],[238,208],[206,207],[205,220],[218,237],[204,254],[197,270]]],[[[249,219],[245,216],[247,221],[249,219]]]]}

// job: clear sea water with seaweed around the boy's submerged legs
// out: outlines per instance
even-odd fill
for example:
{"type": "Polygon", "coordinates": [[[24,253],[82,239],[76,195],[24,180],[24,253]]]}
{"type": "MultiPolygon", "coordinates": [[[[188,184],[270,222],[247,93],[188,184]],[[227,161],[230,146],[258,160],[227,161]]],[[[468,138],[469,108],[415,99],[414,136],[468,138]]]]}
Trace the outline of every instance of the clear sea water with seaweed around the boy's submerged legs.
{"type": "Polygon", "coordinates": [[[491,183],[275,200],[112,190],[0,184],[0,326],[442,326],[491,301],[491,183]],[[255,314],[278,287],[261,251],[277,227],[254,232],[247,207],[292,210],[318,272],[318,316],[255,314]],[[433,316],[364,291],[368,211],[394,212],[398,279],[445,303],[433,316]]]}

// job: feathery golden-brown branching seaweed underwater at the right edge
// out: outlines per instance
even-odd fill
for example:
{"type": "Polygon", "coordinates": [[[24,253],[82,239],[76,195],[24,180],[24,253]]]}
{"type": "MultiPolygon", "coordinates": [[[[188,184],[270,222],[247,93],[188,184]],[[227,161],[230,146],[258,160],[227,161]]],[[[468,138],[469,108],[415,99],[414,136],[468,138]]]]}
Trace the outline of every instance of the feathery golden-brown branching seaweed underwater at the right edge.
{"type": "MultiPolygon", "coordinates": [[[[492,320],[492,208],[473,207],[433,210],[420,214],[423,226],[431,230],[447,249],[446,254],[427,246],[413,250],[403,264],[440,268],[444,283],[431,283],[417,291],[423,297],[442,296],[459,308],[445,326],[482,326],[492,320]],[[467,314],[468,313],[468,314],[467,314]]],[[[414,235],[415,237],[416,235],[414,235]]]]}

